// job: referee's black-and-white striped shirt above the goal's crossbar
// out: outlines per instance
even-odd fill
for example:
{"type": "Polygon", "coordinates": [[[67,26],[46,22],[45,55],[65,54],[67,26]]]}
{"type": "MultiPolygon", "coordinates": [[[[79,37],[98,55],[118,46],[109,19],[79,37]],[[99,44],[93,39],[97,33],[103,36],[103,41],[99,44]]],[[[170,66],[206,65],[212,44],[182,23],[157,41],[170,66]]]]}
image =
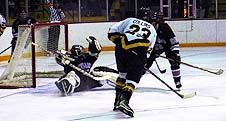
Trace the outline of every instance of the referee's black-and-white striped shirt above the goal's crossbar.
{"type": "Polygon", "coordinates": [[[65,18],[64,12],[61,9],[56,9],[53,5],[49,5],[49,22],[61,21],[65,18]]]}

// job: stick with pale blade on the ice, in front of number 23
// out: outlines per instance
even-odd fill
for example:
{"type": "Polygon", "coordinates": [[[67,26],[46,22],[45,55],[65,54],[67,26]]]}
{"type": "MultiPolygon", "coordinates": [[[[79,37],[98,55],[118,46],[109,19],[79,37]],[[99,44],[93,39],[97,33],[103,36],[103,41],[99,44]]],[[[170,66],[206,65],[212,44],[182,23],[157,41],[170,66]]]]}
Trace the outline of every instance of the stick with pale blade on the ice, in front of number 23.
{"type": "Polygon", "coordinates": [[[166,85],[171,91],[176,93],[179,97],[182,99],[192,98],[196,95],[196,92],[190,93],[190,94],[181,94],[178,93],[176,90],[174,90],[172,87],[170,87],[166,82],[164,82],[162,79],[160,79],[156,74],[154,74],[151,70],[146,69],[150,74],[152,74],[155,78],[157,78],[160,82],[162,82],[164,85],[166,85]]]}

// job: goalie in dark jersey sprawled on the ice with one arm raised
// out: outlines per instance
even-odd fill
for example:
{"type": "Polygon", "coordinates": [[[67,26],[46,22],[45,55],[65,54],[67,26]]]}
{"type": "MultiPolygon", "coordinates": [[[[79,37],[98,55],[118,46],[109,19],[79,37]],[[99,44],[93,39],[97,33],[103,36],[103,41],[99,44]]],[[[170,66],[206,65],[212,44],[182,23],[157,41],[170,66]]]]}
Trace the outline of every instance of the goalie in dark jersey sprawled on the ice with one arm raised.
{"type": "Polygon", "coordinates": [[[55,84],[66,95],[101,87],[104,80],[114,82],[117,77],[117,71],[107,67],[95,67],[90,73],[101,52],[101,45],[93,36],[87,37],[86,40],[89,42],[88,52],[85,52],[81,45],[73,45],[70,52],[65,50],[56,52],[56,62],[64,67],[65,74],[55,84]]]}

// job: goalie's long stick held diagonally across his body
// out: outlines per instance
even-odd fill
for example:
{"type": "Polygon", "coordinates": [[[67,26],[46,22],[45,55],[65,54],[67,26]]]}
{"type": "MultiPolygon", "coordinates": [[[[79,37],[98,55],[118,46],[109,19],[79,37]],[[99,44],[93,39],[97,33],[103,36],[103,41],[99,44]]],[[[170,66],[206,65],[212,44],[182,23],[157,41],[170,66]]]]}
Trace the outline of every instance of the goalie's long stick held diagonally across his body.
{"type": "MultiPolygon", "coordinates": [[[[53,52],[46,50],[45,48],[43,48],[42,46],[40,46],[40,45],[38,45],[38,44],[36,44],[36,43],[34,43],[34,42],[32,42],[32,45],[37,46],[38,48],[42,49],[43,51],[45,51],[45,52],[47,52],[47,53],[49,53],[49,54],[54,54],[53,52]]],[[[66,59],[67,59],[67,58],[66,58],[66,59]]],[[[76,67],[75,65],[71,64],[71,63],[70,63],[70,59],[68,59],[68,63],[66,63],[66,64],[69,65],[70,67],[72,67],[73,69],[75,69],[75,70],[81,72],[83,75],[88,76],[88,77],[90,77],[90,78],[92,78],[92,79],[94,79],[94,80],[98,80],[98,81],[99,81],[99,80],[106,80],[106,79],[111,78],[111,77],[108,76],[108,75],[105,75],[105,76],[102,76],[102,77],[96,77],[96,76],[93,76],[92,74],[90,74],[90,73],[88,73],[88,72],[86,72],[86,71],[80,69],[79,67],[76,67]]],[[[116,84],[116,81],[113,81],[113,80],[108,80],[108,81],[110,81],[111,83],[116,84]]]]}

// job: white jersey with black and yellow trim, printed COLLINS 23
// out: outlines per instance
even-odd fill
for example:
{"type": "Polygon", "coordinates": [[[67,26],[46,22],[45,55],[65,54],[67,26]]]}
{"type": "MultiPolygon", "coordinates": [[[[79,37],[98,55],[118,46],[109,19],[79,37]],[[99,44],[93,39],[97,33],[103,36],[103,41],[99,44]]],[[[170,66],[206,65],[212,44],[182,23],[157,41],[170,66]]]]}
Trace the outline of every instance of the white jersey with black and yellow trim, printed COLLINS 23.
{"type": "Polygon", "coordinates": [[[123,35],[125,38],[122,37],[121,44],[124,49],[139,46],[153,48],[157,37],[152,24],[137,18],[127,18],[112,25],[108,33],[123,35]]]}

